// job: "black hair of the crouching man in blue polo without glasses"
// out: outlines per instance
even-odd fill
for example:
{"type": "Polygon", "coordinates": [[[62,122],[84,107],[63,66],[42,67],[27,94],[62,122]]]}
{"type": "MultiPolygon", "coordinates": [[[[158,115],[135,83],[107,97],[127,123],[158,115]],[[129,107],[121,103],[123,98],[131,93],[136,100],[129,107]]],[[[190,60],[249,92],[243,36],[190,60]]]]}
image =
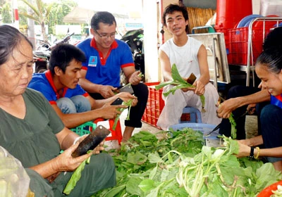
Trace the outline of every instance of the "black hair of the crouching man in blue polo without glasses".
{"type": "Polygon", "coordinates": [[[85,62],[85,53],[71,44],[59,44],[51,51],[49,70],[54,75],[55,67],[58,66],[65,73],[73,59],[78,62],[85,62]]]}

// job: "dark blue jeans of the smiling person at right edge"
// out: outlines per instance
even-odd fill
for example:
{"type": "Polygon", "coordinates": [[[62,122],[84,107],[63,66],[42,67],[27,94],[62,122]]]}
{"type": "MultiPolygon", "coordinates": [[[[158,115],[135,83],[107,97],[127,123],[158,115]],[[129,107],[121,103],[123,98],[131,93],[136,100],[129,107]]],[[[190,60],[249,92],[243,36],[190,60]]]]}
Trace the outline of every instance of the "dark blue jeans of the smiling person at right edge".
{"type": "MultiPolygon", "coordinates": [[[[271,104],[264,106],[260,121],[264,148],[282,146],[282,109],[271,104]]],[[[267,157],[267,160],[275,163],[282,160],[282,158],[267,157]]]]}

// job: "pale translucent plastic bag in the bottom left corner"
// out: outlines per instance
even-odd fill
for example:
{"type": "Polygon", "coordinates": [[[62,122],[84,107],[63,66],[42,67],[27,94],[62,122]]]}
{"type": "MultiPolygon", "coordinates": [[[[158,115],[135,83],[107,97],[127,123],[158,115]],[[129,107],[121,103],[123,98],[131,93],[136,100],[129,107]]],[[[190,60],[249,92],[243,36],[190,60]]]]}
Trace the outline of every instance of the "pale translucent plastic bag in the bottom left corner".
{"type": "Polygon", "coordinates": [[[29,185],[23,165],[0,146],[0,197],[30,196],[29,185]]]}

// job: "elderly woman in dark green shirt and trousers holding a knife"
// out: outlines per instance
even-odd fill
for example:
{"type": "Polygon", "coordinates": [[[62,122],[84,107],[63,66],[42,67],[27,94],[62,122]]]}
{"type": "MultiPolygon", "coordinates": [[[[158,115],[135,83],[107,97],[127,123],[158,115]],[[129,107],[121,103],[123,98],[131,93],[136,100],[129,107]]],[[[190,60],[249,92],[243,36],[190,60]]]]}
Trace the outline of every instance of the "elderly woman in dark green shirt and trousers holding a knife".
{"type": "MultiPolygon", "coordinates": [[[[91,196],[114,186],[116,174],[102,146],[73,158],[79,136],[64,127],[39,92],[27,88],[32,78],[32,44],[16,28],[0,26],[0,146],[18,158],[30,176],[35,196],[63,196],[73,171],[90,156],[69,196],[91,196]],[[60,151],[64,150],[60,154],[60,151]],[[63,173],[60,173],[63,172],[63,173]]],[[[79,139],[78,141],[81,141],[79,139]]]]}

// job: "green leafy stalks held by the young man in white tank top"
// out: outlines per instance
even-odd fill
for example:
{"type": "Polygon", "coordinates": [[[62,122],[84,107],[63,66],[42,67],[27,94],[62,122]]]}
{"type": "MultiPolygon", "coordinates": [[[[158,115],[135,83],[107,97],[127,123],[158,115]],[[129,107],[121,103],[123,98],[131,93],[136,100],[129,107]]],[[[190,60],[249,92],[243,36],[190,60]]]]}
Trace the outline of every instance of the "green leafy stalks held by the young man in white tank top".
{"type": "MultiPolygon", "coordinates": [[[[173,78],[172,81],[169,82],[161,82],[159,85],[156,86],[156,89],[161,89],[167,85],[174,85],[173,88],[169,89],[168,91],[164,92],[164,96],[168,96],[168,94],[174,94],[176,92],[177,89],[183,89],[183,88],[188,88],[188,87],[193,87],[195,88],[195,86],[193,86],[192,84],[189,84],[188,82],[186,82],[185,80],[183,80],[183,78],[180,76],[177,68],[176,68],[176,64],[173,64],[171,67],[171,77],[173,78]]],[[[202,111],[204,112],[204,95],[200,96],[201,102],[202,102],[202,111]]]]}

